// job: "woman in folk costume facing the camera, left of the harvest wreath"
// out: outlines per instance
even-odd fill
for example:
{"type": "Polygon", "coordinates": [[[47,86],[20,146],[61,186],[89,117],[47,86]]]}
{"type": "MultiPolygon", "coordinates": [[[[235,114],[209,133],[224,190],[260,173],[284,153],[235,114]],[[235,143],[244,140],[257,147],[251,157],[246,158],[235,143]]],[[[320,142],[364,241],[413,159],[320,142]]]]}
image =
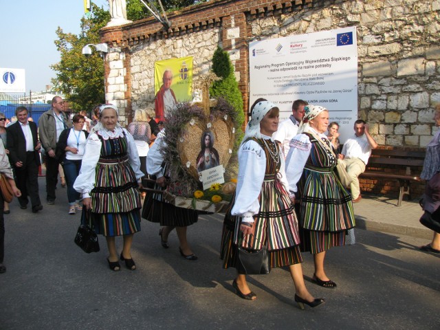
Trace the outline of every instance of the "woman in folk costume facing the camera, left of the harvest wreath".
{"type": "Polygon", "coordinates": [[[140,231],[140,195],[138,186],[144,173],[133,136],[118,123],[118,108],[100,107],[100,121],[91,130],[85,145],[80,174],[74,188],[83,194],[83,217],[91,209],[91,223],[102,234],[109,248],[109,267],[120,270],[121,261],[129,270],[136,265],[131,258],[133,234],[140,231]],[[120,256],[115,236],[122,236],[120,256]]]}

